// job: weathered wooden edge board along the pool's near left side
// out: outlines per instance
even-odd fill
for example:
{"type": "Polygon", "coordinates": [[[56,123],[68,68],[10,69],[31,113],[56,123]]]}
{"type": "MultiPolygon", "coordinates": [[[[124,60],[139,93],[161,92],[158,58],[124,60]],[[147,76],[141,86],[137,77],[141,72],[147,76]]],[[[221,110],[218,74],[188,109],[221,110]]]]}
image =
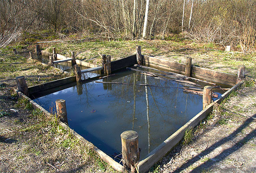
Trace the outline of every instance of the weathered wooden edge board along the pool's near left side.
{"type": "MultiPolygon", "coordinates": [[[[21,93],[19,90],[16,90],[17,94],[19,95],[20,98],[26,98],[28,99],[28,101],[30,101],[30,103],[33,105],[34,109],[40,109],[41,111],[43,111],[43,113],[45,113],[46,117],[50,117],[50,113],[48,111],[46,111],[46,109],[44,109],[43,107],[41,107],[39,104],[37,104],[36,102],[34,102],[33,100],[31,100],[29,97],[27,97],[26,95],[24,95],[23,93],[21,93]]],[[[76,131],[74,131],[73,129],[71,129],[69,126],[67,126],[66,124],[64,124],[63,122],[59,121],[59,125],[64,127],[67,130],[70,130],[73,132],[74,136],[76,138],[78,138],[80,141],[84,142],[85,144],[91,144],[91,142],[87,141],[85,138],[83,138],[81,135],[79,135],[78,133],[76,133],[76,131]]],[[[92,144],[93,145],[93,144],[92,144]]],[[[100,158],[102,160],[104,160],[105,162],[107,162],[110,166],[112,166],[114,169],[116,169],[119,172],[123,171],[123,166],[119,163],[117,163],[115,160],[113,160],[113,158],[109,157],[106,153],[104,153],[103,151],[101,151],[100,149],[98,149],[96,146],[93,145],[93,149],[98,153],[98,155],[100,156],[100,158]]]]}

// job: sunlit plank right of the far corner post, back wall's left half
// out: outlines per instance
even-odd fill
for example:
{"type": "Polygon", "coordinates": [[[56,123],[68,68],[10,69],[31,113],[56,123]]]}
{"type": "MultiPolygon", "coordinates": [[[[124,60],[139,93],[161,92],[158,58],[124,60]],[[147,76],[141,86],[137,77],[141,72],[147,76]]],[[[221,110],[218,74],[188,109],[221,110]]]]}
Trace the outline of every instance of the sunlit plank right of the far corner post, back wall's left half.
{"type": "Polygon", "coordinates": [[[185,71],[185,64],[180,64],[178,62],[171,62],[169,60],[163,60],[147,55],[142,56],[142,61],[150,64],[156,64],[158,66],[169,67],[178,71],[185,71]]]}

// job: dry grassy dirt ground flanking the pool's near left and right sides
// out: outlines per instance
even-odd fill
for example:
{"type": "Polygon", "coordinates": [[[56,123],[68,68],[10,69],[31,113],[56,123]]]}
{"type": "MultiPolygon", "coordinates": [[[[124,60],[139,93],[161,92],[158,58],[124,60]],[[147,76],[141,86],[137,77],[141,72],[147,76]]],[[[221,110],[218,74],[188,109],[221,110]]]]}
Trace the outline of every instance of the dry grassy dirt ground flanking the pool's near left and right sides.
{"type": "MultiPolygon", "coordinates": [[[[1,173],[115,172],[90,146],[58,126],[58,120],[33,111],[9,88],[15,87],[15,76],[20,74],[29,78],[29,86],[65,74],[28,57],[13,56],[11,51],[2,52],[0,61],[1,173]]],[[[256,118],[256,86],[252,80],[221,106],[216,105],[213,113],[193,129],[192,141],[176,146],[150,173],[256,172],[256,120],[248,116],[256,118]]]]}

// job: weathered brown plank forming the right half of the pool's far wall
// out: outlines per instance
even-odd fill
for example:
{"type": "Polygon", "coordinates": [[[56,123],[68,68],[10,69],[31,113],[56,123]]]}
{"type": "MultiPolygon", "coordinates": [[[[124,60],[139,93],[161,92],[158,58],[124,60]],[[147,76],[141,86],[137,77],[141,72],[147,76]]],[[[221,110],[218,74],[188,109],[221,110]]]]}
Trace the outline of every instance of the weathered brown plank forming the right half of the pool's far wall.
{"type": "Polygon", "coordinates": [[[236,84],[237,76],[201,67],[192,66],[192,77],[202,78],[226,85],[236,84]]]}

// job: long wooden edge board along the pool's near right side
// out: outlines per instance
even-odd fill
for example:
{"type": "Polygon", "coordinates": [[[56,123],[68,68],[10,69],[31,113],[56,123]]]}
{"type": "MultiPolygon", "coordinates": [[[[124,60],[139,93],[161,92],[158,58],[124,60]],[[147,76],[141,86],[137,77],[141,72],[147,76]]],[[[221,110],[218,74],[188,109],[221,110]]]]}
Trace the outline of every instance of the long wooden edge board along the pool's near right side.
{"type": "Polygon", "coordinates": [[[156,164],[163,156],[165,156],[182,138],[184,137],[186,129],[189,127],[195,127],[201,120],[206,118],[206,116],[212,111],[213,105],[215,103],[220,103],[224,98],[228,97],[230,92],[234,91],[238,87],[240,87],[243,82],[236,84],[228,91],[226,91],[221,98],[215,100],[213,103],[209,104],[205,109],[200,111],[195,117],[191,118],[184,126],[180,127],[173,135],[167,138],[164,142],[162,142],[157,148],[151,151],[147,157],[139,162],[137,168],[139,173],[145,173],[148,169],[150,169],[154,164],[156,164]]]}

